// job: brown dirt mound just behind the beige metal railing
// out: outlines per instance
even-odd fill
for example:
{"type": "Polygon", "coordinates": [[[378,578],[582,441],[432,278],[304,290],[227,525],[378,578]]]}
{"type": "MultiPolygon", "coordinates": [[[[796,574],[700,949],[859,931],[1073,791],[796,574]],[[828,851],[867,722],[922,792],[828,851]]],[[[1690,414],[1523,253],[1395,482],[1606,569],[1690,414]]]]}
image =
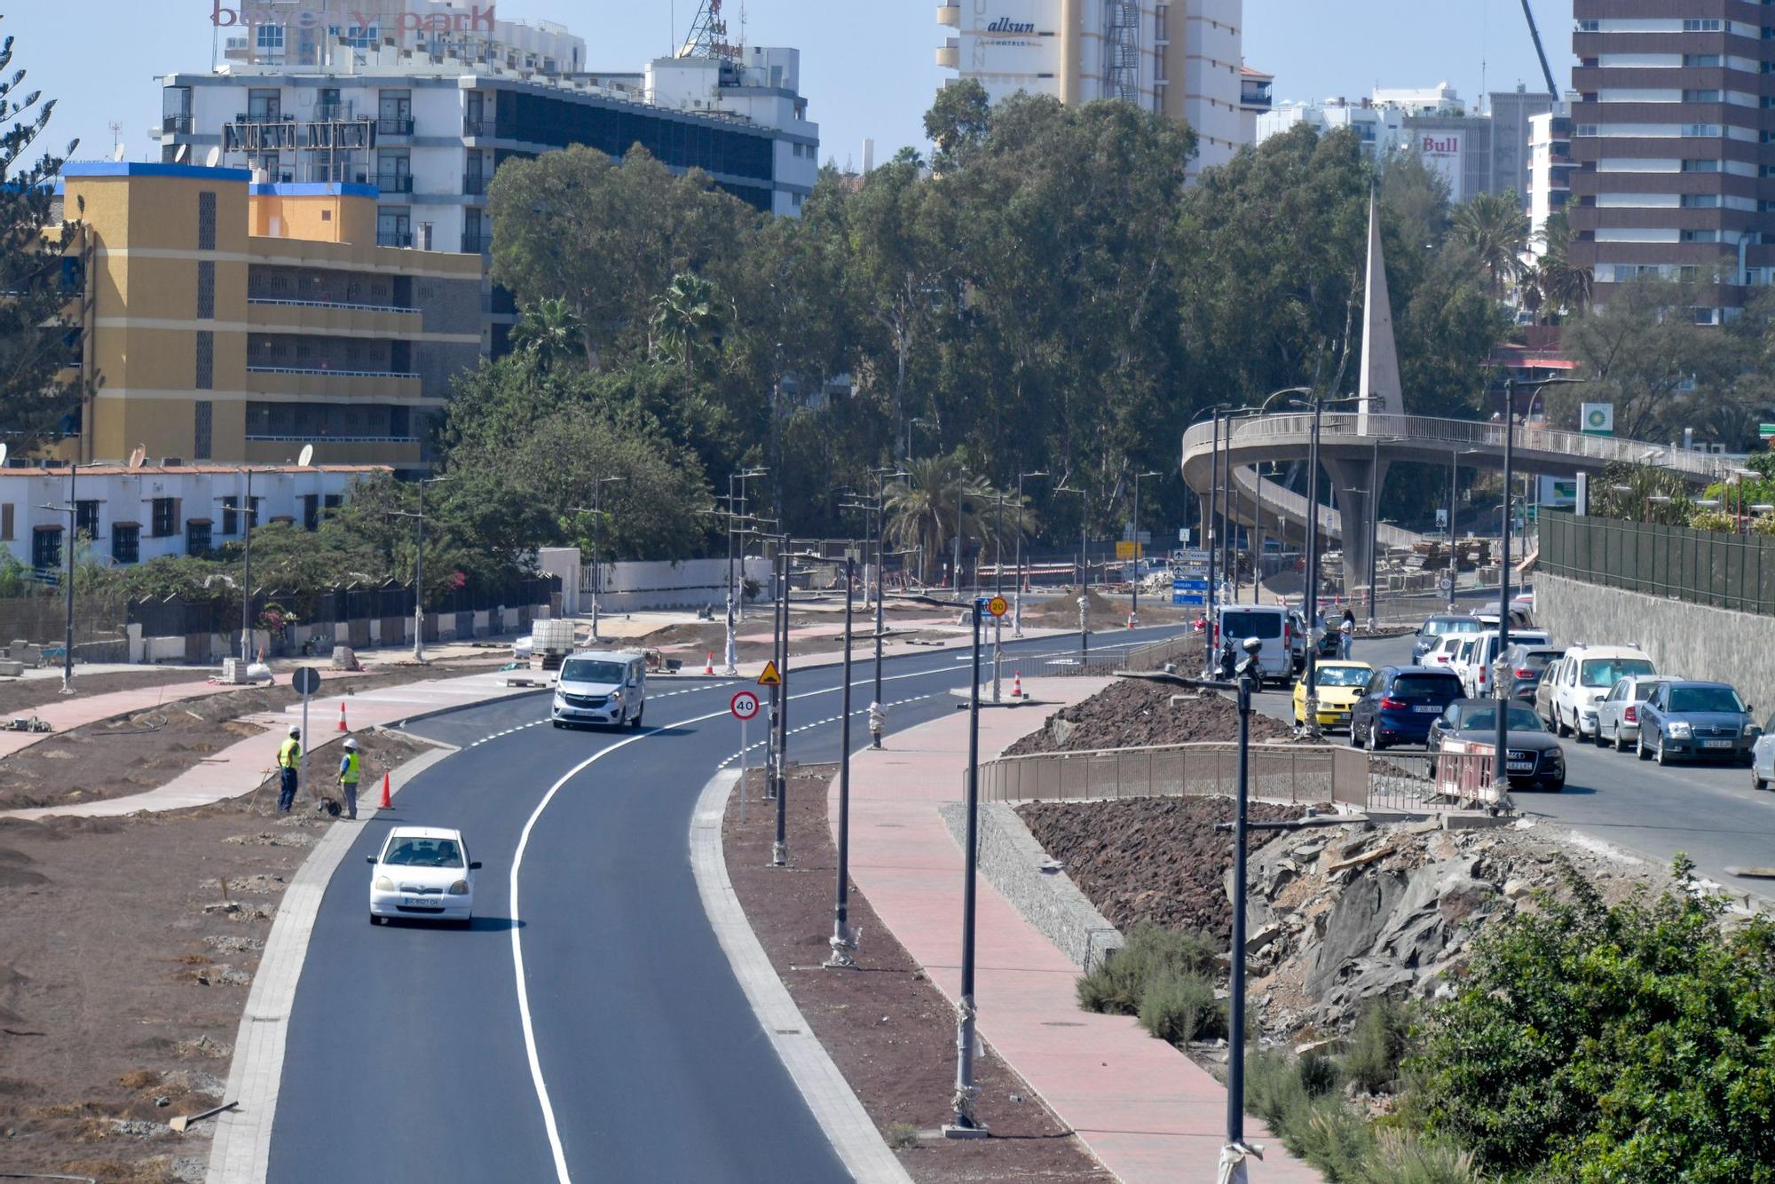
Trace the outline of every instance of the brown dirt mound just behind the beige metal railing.
{"type": "MultiPolygon", "coordinates": [[[[1237,740],[1239,706],[1234,699],[1205,692],[1200,698],[1173,683],[1122,678],[1088,699],[1065,706],[1008,749],[1024,753],[1090,753],[1095,749],[1237,740]],[[1177,701],[1173,703],[1173,696],[1177,701]]],[[[1280,719],[1251,712],[1251,740],[1292,740],[1294,730],[1280,719]]]]}

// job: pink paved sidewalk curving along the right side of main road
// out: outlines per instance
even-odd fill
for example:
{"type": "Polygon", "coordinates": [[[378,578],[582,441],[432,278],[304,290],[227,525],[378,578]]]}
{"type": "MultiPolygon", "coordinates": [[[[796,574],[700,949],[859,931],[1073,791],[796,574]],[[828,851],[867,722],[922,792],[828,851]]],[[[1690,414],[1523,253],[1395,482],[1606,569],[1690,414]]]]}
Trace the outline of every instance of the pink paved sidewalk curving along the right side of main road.
{"type": "MultiPolygon", "coordinates": [[[[1024,680],[1049,705],[1083,699],[1108,680],[1024,680]]],[[[980,714],[980,753],[1003,751],[1049,708],[980,714]]],[[[875,914],[953,1003],[960,992],[962,852],[937,804],[960,793],[967,715],[893,733],[884,751],[850,762],[850,872],[875,914]]],[[[836,809],[838,795],[831,797],[836,809]]],[[[1127,1015],[1079,1008],[1079,967],[982,877],[974,999],[980,1035],[1042,1095],[1061,1122],[1125,1184],[1212,1180],[1227,1129],[1227,1092],[1187,1056],[1127,1015]],[[1061,1024],[1061,1026],[1054,1026],[1061,1024]]],[[[1246,1138],[1266,1148],[1251,1180],[1321,1180],[1260,1122],[1246,1138]]]]}

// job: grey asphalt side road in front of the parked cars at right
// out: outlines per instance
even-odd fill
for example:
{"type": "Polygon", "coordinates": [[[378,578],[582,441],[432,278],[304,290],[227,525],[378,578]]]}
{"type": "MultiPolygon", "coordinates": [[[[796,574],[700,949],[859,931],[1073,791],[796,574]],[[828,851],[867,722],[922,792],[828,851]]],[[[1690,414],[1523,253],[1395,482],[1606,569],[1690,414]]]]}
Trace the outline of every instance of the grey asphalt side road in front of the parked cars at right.
{"type": "MultiPolygon", "coordinates": [[[[1353,657],[1374,666],[1411,660],[1411,637],[1358,639],[1353,657]]],[[[1686,671],[1684,671],[1686,673],[1686,671]]],[[[1290,691],[1264,692],[1260,710],[1292,719],[1290,691]]],[[[1628,753],[1560,740],[1562,793],[1514,793],[1518,809],[1626,849],[1658,864],[1688,852],[1697,872],[1729,891],[1775,896],[1770,880],[1727,873],[1727,866],[1775,863],[1775,793],[1750,788],[1743,765],[1658,769],[1628,753]]]]}

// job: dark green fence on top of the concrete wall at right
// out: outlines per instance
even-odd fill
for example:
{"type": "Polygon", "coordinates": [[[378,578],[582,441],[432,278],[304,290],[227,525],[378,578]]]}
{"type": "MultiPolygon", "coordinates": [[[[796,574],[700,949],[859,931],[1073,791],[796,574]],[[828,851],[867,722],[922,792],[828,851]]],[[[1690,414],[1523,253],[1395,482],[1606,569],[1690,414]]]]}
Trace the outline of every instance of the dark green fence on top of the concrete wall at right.
{"type": "Polygon", "coordinates": [[[1587,584],[1775,616],[1775,538],[1544,515],[1539,570],[1587,584]]]}

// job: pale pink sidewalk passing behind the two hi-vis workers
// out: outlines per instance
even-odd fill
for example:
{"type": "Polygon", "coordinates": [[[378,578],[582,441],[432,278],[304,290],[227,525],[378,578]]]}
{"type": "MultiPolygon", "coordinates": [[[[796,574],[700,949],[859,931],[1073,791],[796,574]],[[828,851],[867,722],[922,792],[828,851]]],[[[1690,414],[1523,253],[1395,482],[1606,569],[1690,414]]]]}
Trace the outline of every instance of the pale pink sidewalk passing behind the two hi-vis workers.
{"type": "MultiPolygon", "coordinates": [[[[506,675],[486,673],[311,699],[309,781],[311,785],[332,785],[332,765],[337,758],[330,753],[330,746],[346,735],[337,731],[341,703],[346,705],[346,722],[350,728],[360,731],[518,694],[536,694],[536,689],[508,687],[506,675]]],[[[206,758],[195,769],[186,769],[158,790],[75,806],[7,809],[0,811],[0,818],[44,818],[48,815],[106,818],[133,815],[140,809],[188,809],[192,806],[209,806],[229,797],[240,797],[257,786],[275,769],[277,749],[284,742],[286,730],[291,722],[300,722],[302,719],[302,703],[295,703],[286,712],[247,715],[245,719],[263,724],[266,731],[231,744],[215,756],[206,758]]],[[[307,788],[304,788],[304,797],[307,795],[307,788]]]]}

